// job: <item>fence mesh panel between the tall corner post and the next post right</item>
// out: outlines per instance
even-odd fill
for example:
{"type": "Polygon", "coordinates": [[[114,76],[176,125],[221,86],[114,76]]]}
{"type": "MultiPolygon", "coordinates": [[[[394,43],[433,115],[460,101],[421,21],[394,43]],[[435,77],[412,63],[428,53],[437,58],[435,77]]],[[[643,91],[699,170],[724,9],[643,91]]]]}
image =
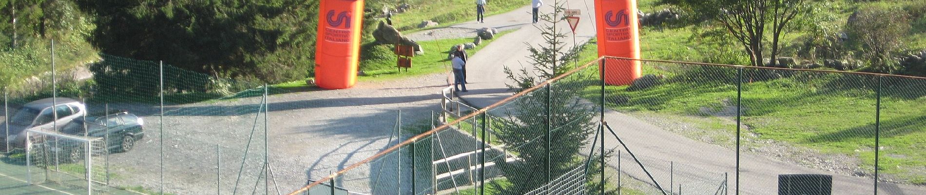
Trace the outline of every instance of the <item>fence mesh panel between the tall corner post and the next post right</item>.
{"type": "MultiPolygon", "coordinates": [[[[606,68],[630,66],[633,61],[604,59],[606,68]]],[[[612,161],[608,165],[620,166],[619,172],[624,174],[619,177],[621,188],[661,193],[652,181],[655,179],[667,193],[677,193],[679,184],[691,186],[703,182],[713,184],[704,189],[693,187],[698,189],[689,192],[716,193],[722,181],[719,177],[735,173],[738,70],[669,62],[640,63],[646,75],[628,85],[607,85],[604,92],[605,121],[608,131],[613,130],[607,132],[607,143],[613,144],[608,148],[621,151],[619,157],[609,157],[612,161]],[[649,176],[627,150],[649,156],[639,159],[649,176]],[[680,165],[679,172],[675,165],[680,165]],[[632,181],[623,186],[628,181],[624,178],[632,181]]]]}

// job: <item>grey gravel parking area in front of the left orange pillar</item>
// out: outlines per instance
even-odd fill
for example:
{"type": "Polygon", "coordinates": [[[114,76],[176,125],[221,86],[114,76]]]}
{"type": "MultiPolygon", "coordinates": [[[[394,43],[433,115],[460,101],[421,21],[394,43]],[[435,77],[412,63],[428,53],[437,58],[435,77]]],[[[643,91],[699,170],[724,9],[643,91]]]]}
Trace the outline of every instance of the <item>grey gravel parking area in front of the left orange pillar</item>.
{"type": "MultiPolygon", "coordinates": [[[[277,188],[283,194],[299,189],[306,184],[307,178],[327,177],[388,148],[398,110],[402,110],[405,124],[428,118],[432,110],[440,108],[440,90],[446,86],[445,79],[445,75],[438,74],[388,82],[360,82],[346,90],[271,95],[269,142],[266,144],[275,178],[271,181],[275,180],[276,185],[269,183],[269,193],[276,193],[277,188]]],[[[215,194],[217,190],[221,190],[221,194],[250,193],[255,189],[263,193],[265,182],[263,178],[258,180],[265,153],[264,115],[257,116],[260,101],[260,97],[253,97],[167,108],[164,188],[176,194],[215,194]],[[252,132],[252,128],[256,130],[252,132]],[[248,148],[249,138],[252,139],[248,148]],[[219,144],[221,155],[217,159],[219,144]],[[245,152],[248,153],[246,157],[245,152]],[[237,179],[240,169],[243,170],[241,179],[237,179]],[[239,181],[237,189],[235,181],[239,181]]],[[[121,187],[160,189],[161,140],[157,107],[110,107],[144,114],[140,116],[146,122],[146,136],[135,149],[111,156],[112,183],[121,187]]],[[[408,136],[411,135],[404,137],[408,136]]],[[[375,180],[371,177],[373,172],[369,166],[362,166],[339,179],[338,186],[369,189],[367,185],[375,180]]]]}

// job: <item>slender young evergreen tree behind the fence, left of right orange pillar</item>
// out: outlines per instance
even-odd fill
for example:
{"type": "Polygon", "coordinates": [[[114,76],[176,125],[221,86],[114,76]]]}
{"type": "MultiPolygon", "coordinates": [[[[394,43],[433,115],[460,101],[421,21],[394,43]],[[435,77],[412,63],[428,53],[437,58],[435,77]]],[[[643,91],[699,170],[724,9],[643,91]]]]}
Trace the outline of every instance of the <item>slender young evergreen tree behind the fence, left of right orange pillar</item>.
{"type": "MultiPolygon", "coordinates": [[[[546,21],[538,27],[544,43],[529,45],[532,69],[525,67],[515,73],[505,68],[507,78],[517,83],[508,86],[511,90],[530,89],[572,68],[569,64],[578,56],[579,47],[566,48],[565,28],[557,28],[557,22],[565,21],[564,8],[561,4],[554,7],[554,12],[540,16],[546,21]]],[[[596,126],[592,122],[593,106],[579,98],[582,87],[570,85],[578,82],[582,81],[560,80],[549,89],[532,91],[509,104],[513,109],[508,109],[506,119],[499,121],[498,139],[506,143],[507,151],[517,154],[519,161],[497,162],[513,184],[504,189],[505,193],[523,194],[542,188],[547,179],[584,165],[580,152],[589,144],[589,135],[596,126]]]]}

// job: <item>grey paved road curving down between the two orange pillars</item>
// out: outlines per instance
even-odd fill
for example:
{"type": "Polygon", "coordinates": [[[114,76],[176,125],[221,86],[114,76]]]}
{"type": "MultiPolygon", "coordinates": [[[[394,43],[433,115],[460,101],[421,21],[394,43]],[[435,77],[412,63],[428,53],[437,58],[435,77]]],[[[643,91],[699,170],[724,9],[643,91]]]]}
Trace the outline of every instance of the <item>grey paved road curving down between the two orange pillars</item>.
{"type": "MultiPolygon", "coordinates": [[[[580,43],[587,41],[594,36],[594,19],[589,16],[594,15],[593,1],[570,1],[570,8],[582,9],[582,22],[577,30],[577,39],[580,43]],[[585,8],[587,5],[587,9],[585,8]]],[[[552,8],[544,6],[542,11],[551,11],[552,8]]],[[[485,107],[494,104],[510,96],[511,91],[507,91],[506,82],[508,79],[503,73],[504,67],[519,69],[527,65],[530,59],[527,55],[527,44],[542,43],[543,39],[540,30],[533,28],[530,15],[527,13],[530,7],[521,7],[507,14],[496,15],[486,18],[486,23],[475,23],[474,21],[448,27],[449,30],[476,30],[482,27],[494,27],[500,30],[517,29],[503,37],[496,38],[493,43],[484,47],[480,52],[471,54],[468,63],[469,82],[467,86],[469,92],[460,93],[460,98],[475,107],[485,107]]],[[[537,25],[551,25],[540,23],[537,25]]],[[[564,22],[557,24],[557,27],[568,28],[564,22]]],[[[568,30],[568,29],[567,29],[568,30]]],[[[432,30],[434,33],[442,30],[432,30]]],[[[410,36],[424,37],[430,31],[422,31],[410,36]]],[[[566,40],[571,43],[570,40],[566,40]]],[[[644,40],[645,42],[645,40],[644,40]]],[[[651,125],[643,120],[625,114],[607,111],[606,121],[612,128],[615,128],[617,134],[630,147],[632,152],[637,155],[651,156],[662,161],[672,161],[677,164],[676,167],[687,167],[682,174],[674,176],[675,182],[683,181],[703,181],[717,180],[722,178],[720,173],[730,173],[730,192],[735,190],[735,152],[722,148],[717,145],[707,144],[697,140],[691,140],[681,135],[674,134],[665,129],[651,125]]],[[[608,133],[609,134],[609,133],[608,133]]],[[[607,148],[619,147],[617,139],[608,136],[606,140],[607,148]]],[[[626,159],[626,158],[625,158],[626,159]]],[[[614,161],[611,164],[617,164],[614,161]]],[[[625,167],[629,160],[623,160],[625,167]]],[[[651,172],[654,172],[660,184],[668,187],[668,173],[670,165],[657,164],[647,165],[651,172]]],[[[675,169],[678,171],[679,169],[675,169]]],[[[632,177],[644,178],[642,172],[629,171],[632,177]]],[[[772,160],[764,156],[753,154],[744,154],[741,160],[740,185],[743,194],[770,194],[775,193],[778,188],[779,174],[828,174],[836,175],[827,171],[821,171],[803,167],[800,165],[786,164],[780,161],[772,160]]],[[[676,185],[680,183],[674,183],[676,185]]],[[[717,183],[704,184],[710,189],[711,185],[716,189],[717,183]]],[[[895,185],[882,183],[879,193],[884,194],[926,194],[926,188],[895,185]]],[[[873,181],[865,177],[834,176],[833,177],[834,194],[870,194],[873,191],[873,181]]],[[[707,190],[705,190],[707,191],[707,190]]]]}

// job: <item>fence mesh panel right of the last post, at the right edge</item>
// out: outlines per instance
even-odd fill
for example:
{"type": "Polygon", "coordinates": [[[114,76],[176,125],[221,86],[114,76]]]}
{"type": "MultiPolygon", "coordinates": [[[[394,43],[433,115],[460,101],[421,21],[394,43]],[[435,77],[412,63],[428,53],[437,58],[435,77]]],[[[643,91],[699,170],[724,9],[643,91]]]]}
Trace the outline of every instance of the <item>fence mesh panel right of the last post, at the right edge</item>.
{"type": "Polygon", "coordinates": [[[880,79],[878,193],[922,193],[911,185],[926,184],[926,79],[880,79]]]}

